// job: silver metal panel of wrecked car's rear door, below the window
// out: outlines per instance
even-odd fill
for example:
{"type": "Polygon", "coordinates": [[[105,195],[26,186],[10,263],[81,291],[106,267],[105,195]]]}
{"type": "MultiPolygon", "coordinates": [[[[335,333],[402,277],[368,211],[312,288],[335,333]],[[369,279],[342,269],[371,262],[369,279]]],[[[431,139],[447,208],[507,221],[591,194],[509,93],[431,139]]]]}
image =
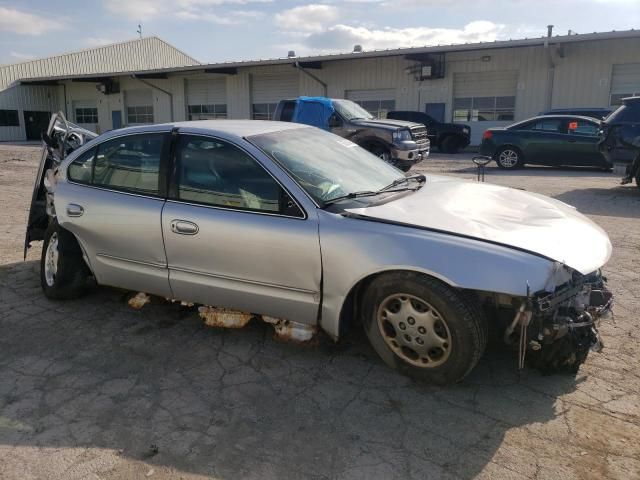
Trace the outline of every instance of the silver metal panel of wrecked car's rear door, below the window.
{"type": "Polygon", "coordinates": [[[170,296],[160,214],[163,199],[61,180],[55,191],[60,226],[72,232],[101,285],[170,296]],[[70,205],[83,208],[70,216],[70,205]]]}

